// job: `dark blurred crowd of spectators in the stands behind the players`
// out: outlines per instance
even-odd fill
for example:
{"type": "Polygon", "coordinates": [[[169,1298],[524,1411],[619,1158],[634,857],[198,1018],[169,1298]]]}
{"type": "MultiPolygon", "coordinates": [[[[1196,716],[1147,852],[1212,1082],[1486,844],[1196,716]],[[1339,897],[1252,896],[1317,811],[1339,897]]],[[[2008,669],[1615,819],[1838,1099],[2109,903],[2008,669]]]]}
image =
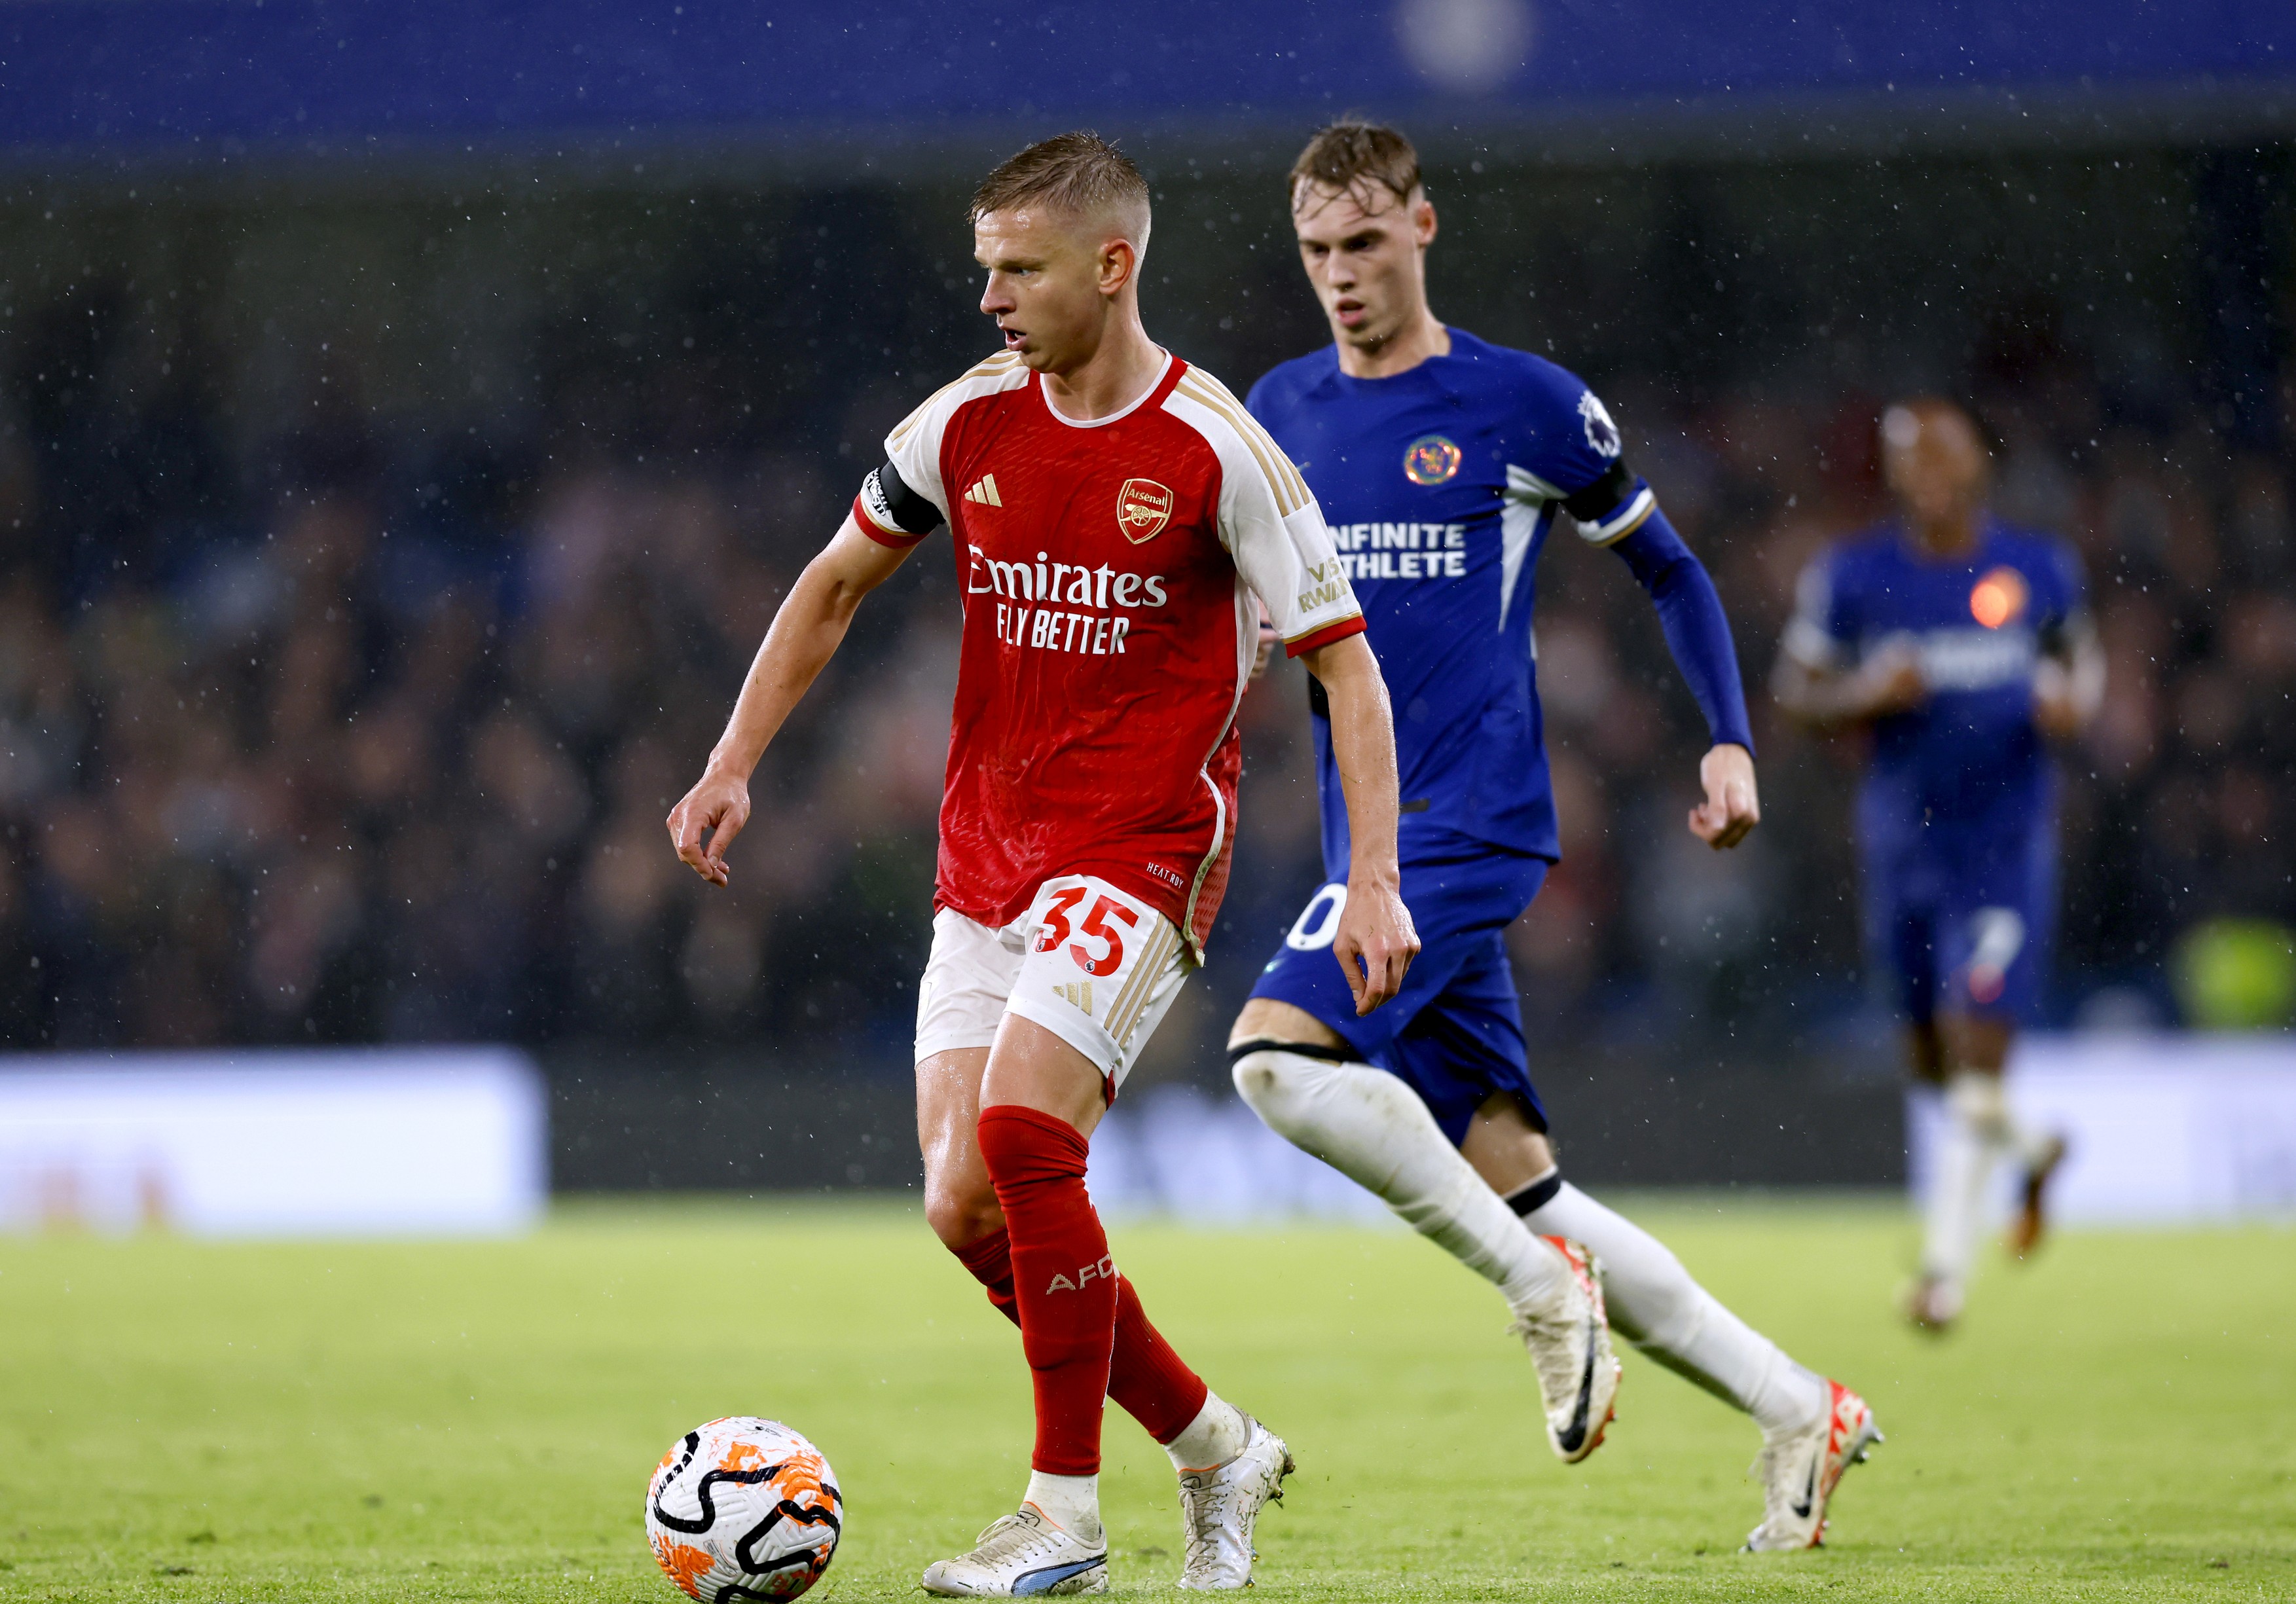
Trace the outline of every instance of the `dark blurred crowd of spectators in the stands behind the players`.
{"type": "MultiPolygon", "coordinates": [[[[218,422],[214,356],[138,294],[18,285],[0,344],[0,1040],[714,1037],[898,1069],[955,663],[946,548],[861,610],[760,769],[730,893],[675,863],[661,817],[868,441],[980,330],[912,307],[902,381],[856,388],[831,372],[870,344],[850,330],[732,381],[707,328],[631,360],[560,321],[533,335],[533,404],[489,427],[370,404],[321,349],[294,422],[248,438],[218,422]],[[838,427],[790,422],[831,392],[838,427]]],[[[1316,337],[1297,312],[1279,330],[1201,358],[1242,388],[1316,337]]],[[[1513,936],[1534,1035],[1722,1023],[1759,1049],[1867,1021],[1871,1046],[1853,753],[1791,734],[1761,684],[1802,562],[1883,512],[1890,397],[1855,374],[1692,395],[1649,363],[1587,372],[1731,608],[1768,826],[1733,856],[1683,831],[1694,709],[1623,569],[1557,542],[1538,661],[1566,858],[1513,936]]],[[[2289,431],[2232,443],[2197,386],[2117,388],[2046,319],[1956,374],[2000,512],[2080,546],[2110,652],[2066,762],[2055,1012],[2167,1021],[2183,932],[2296,918],[2289,431]]],[[[1231,1005],[1318,879],[1295,668],[1247,721],[1221,941],[1150,1074],[1224,1069],[1231,1005]]]]}

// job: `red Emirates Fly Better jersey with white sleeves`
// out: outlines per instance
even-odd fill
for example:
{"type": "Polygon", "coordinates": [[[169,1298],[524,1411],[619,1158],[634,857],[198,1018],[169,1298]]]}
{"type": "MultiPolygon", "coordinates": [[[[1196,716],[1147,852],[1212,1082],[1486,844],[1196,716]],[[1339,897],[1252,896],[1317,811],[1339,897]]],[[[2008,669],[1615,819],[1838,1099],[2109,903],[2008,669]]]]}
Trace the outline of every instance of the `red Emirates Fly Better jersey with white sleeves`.
{"type": "MultiPolygon", "coordinates": [[[[1006,925],[1045,879],[1097,874],[1201,959],[1235,844],[1251,597],[1293,656],[1364,629],[1300,470],[1171,356],[1091,422],[992,356],[886,454],[948,521],[964,592],[934,906],[1006,925]]],[[[882,512],[854,503],[870,537],[921,539],[882,512]]]]}

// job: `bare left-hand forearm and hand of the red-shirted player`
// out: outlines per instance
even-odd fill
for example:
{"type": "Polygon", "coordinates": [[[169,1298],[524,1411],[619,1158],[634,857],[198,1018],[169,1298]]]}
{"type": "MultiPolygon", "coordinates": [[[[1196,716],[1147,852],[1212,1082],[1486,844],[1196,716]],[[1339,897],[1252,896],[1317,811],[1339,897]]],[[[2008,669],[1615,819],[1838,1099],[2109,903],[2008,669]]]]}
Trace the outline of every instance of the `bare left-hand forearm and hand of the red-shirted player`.
{"type": "Polygon", "coordinates": [[[909,546],[889,546],[866,535],[847,514],[774,613],[732,718],[726,721],[726,734],[709,750],[703,778],[668,817],[677,856],[712,886],[726,883],[726,847],[748,824],[748,776],[758,760],[836,656],[861,599],[889,581],[907,555],[909,546]]]}

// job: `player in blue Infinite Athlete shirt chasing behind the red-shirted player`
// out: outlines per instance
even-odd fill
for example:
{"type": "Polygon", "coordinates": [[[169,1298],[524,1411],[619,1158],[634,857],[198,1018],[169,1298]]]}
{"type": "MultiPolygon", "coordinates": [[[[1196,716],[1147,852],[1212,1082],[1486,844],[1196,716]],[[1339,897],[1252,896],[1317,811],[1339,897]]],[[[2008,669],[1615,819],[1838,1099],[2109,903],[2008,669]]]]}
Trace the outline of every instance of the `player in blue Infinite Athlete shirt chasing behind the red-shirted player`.
{"type": "MultiPolygon", "coordinates": [[[[1857,1393],[1793,1363],[1681,1262],[1554,1166],[1531,1088],[1504,932],[1554,865],[1554,796],[1531,649],[1534,569],[1557,530],[1616,553],[1649,590],[1713,746],[1690,831],[1736,847],[1759,819],[1729,624],[1706,569],[1630,468],[1603,402],[1525,351],[1428,310],[1435,209],[1394,129],[1341,122],[1290,172],[1293,227],[1332,347],[1283,363],[1249,408],[1332,521],[1396,704],[1403,900],[1421,952],[1401,994],[1357,1014],[1329,943],[1348,822],[1316,707],[1325,883],[1261,973],[1228,1040],[1235,1085],[1279,1134],[1368,1186],[1499,1285],[1543,1239],[1584,1244],[1612,1326],[1754,1416],[1766,1510],[1747,1547],[1807,1549],[1844,1469],[1880,1439],[1857,1393]]],[[[1554,1430],[1557,1386],[1525,1331],[1554,1430]]],[[[1582,1397],[1589,1381],[1582,1381],[1582,1397]]],[[[1598,1379],[1593,1381],[1598,1386],[1598,1379]]]]}

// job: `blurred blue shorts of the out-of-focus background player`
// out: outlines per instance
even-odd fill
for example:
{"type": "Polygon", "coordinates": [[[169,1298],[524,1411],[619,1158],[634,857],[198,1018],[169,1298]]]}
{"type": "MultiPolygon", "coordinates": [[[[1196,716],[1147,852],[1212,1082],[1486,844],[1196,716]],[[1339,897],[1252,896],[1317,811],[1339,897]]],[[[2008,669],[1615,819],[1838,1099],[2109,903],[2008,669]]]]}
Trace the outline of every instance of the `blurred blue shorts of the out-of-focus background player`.
{"type": "Polygon", "coordinates": [[[1867,858],[1867,948],[1915,1023],[1975,1014],[2032,1023],[2057,925],[2055,822],[1924,833],[1867,858]]]}

